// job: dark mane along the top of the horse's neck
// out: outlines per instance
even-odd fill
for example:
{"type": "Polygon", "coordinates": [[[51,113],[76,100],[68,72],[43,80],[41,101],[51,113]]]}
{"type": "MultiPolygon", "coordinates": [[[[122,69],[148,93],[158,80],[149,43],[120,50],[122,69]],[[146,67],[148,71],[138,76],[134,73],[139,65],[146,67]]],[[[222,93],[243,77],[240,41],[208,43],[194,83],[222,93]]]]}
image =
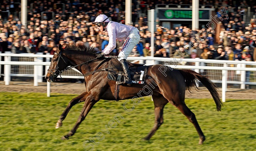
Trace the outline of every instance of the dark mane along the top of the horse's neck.
{"type": "Polygon", "coordinates": [[[75,51],[83,51],[84,53],[95,54],[98,50],[94,47],[90,46],[89,48],[84,45],[84,43],[68,43],[63,44],[62,48],[66,50],[75,50],[75,51]]]}

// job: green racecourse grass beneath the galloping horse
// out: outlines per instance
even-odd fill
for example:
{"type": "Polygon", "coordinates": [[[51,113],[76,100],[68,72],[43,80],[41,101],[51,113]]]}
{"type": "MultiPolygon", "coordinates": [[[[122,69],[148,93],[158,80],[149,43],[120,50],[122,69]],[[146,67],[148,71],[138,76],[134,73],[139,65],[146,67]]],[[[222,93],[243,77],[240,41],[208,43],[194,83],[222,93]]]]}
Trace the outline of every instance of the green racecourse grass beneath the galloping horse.
{"type": "MultiPolygon", "coordinates": [[[[245,151],[256,150],[256,100],[227,100],[221,112],[215,112],[213,99],[189,99],[187,106],[194,112],[206,137],[197,145],[198,134],[188,119],[174,106],[164,109],[164,123],[149,141],[142,140],[154,124],[154,105],[145,97],[133,111],[123,108],[125,101],[101,100],[81,123],[74,136],[61,140],[74,126],[83,103],[73,106],[55,129],[55,123],[68,102],[77,95],[0,92],[1,151],[80,151],[83,143],[105,129],[116,114],[124,119],[105,138],[94,145],[94,151],[245,151]]],[[[241,96],[242,98],[242,96],[241,96]]],[[[126,104],[131,107],[131,101],[126,104]]],[[[96,142],[98,140],[94,139],[96,142]]],[[[86,144],[88,145],[89,142],[86,144]]]]}

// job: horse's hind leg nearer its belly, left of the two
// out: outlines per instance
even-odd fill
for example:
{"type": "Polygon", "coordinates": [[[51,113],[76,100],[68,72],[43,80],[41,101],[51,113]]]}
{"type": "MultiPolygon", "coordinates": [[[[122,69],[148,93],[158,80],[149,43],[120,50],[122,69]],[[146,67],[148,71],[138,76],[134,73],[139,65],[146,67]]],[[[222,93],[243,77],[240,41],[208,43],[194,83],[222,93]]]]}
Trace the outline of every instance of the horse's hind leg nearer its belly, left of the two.
{"type": "Polygon", "coordinates": [[[163,123],[163,109],[164,106],[168,103],[162,94],[153,94],[152,99],[155,105],[155,125],[153,129],[148,133],[148,136],[145,137],[145,140],[149,140],[156,132],[156,130],[162,125],[163,123]]]}

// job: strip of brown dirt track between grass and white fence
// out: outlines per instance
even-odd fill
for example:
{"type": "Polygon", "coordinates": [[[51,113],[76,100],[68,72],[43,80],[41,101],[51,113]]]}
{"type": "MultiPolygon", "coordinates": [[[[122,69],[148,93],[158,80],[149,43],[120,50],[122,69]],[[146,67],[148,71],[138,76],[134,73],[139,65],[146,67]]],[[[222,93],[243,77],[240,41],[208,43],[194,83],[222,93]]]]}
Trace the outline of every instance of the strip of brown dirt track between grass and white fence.
{"type": "MultiPolygon", "coordinates": [[[[0,81],[1,92],[47,92],[47,83],[39,83],[39,86],[34,86],[33,82],[10,82],[10,85],[5,85],[4,81],[0,81]]],[[[51,93],[63,94],[81,94],[85,91],[84,84],[79,83],[51,83],[51,93]]],[[[222,96],[221,88],[219,95],[222,96]]],[[[226,99],[250,99],[256,100],[256,90],[253,89],[234,89],[228,88],[226,92],[226,99]]],[[[186,93],[186,98],[212,98],[210,92],[206,89],[200,92],[193,91],[193,93],[186,93]]]]}

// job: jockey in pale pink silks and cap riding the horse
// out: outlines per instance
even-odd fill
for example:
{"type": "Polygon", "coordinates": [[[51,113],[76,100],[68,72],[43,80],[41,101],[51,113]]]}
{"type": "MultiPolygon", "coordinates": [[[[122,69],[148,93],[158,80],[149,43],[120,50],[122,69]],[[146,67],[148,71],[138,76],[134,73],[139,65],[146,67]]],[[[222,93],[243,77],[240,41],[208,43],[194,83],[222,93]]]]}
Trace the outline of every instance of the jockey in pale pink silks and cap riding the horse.
{"type": "Polygon", "coordinates": [[[117,59],[121,63],[123,67],[123,71],[125,74],[125,81],[119,82],[117,85],[126,83],[127,85],[132,84],[130,70],[126,59],[129,53],[133,50],[133,48],[139,43],[140,41],[140,32],[137,28],[133,26],[128,26],[124,24],[120,24],[118,22],[109,21],[106,15],[98,15],[94,21],[94,23],[98,26],[100,31],[107,31],[109,36],[108,46],[102,50],[102,52],[98,53],[97,58],[102,57],[104,55],[109,54],[113,49],[116,48],[116,39],[117,40],[125,40],[122,46],[121,51],[117,59]]]}

